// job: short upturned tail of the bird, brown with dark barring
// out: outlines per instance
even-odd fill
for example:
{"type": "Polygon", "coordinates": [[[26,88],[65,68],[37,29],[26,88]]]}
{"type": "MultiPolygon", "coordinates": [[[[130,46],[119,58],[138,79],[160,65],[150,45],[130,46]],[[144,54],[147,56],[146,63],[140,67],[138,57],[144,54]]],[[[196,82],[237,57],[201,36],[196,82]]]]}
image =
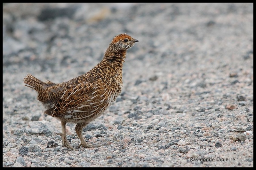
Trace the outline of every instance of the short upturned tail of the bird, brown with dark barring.
{"type": "Polygon", "coordinates": [[[30,87],[36,91],[40,91],[44,88],[44,82],[37,79],[36,77],[34,77],[31,74],[27,74],[24,79],[23,82],[27,85],[24,84],[24,86],[30,87]]]}

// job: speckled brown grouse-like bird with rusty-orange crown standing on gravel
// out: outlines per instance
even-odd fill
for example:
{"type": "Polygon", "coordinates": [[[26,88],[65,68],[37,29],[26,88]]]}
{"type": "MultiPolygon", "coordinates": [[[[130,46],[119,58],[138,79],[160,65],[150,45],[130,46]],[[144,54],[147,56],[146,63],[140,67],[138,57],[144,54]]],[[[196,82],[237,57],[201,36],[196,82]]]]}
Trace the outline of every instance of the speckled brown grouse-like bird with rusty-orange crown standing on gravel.
{"type": "Polygon", "coordinates": [[[80,148],[102,145],[87,144],[82,136],[83,128],[98,118],[113,104],[123,87],[123,64],[126,52],[139,42],[130,35],[116,35],[109,44],[103,59],[90,71],[62,83],[41,81],[31,74],[24,77],[24,86],[36,90],[37,100],[45,107],[44,113],[61,122],[62,146],[75,149],[67,140],[66,123],[76,123],[75,131],[80,148]]]}

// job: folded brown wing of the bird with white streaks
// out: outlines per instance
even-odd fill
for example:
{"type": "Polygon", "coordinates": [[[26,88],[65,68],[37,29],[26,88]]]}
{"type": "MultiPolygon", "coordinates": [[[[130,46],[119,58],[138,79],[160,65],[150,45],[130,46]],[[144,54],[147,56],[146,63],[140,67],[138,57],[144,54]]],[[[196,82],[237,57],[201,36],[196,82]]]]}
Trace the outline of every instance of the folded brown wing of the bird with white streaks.
{"type": "Polygon", "coordinates": [[[93,106],[100,102],[103,82],[81,82],[67,86],[62,96],[52,108],[52,116],[63,116],[72,112],[91,112],[93,106]]]}

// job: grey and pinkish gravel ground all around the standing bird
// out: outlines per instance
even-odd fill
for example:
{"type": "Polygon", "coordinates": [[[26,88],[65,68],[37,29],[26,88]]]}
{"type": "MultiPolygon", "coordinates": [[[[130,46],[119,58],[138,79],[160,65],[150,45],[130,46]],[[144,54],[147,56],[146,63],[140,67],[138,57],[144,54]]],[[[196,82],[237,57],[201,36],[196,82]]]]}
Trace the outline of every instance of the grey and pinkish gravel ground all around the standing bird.
{"type": "Polygon", "coordinates": [[[253,4],[3,4],[3,167],[253,167],[253,4]],[[128,50],[123,90],[61,146],[31,73],[55,83],[128,50]]]}

